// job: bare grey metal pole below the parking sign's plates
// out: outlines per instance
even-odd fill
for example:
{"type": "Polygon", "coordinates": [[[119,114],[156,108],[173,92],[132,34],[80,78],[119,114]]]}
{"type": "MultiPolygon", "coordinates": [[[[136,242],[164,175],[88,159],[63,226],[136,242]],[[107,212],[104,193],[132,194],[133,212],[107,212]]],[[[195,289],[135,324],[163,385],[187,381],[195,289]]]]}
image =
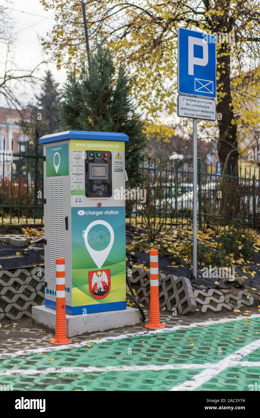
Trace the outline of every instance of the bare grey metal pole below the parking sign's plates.
{"type": "Polygon", "coordinates": [[[193,159],[193,277],[197,278],[197,119],[193,119],[193,133],[192,133],[192,159],[193,159]]]}

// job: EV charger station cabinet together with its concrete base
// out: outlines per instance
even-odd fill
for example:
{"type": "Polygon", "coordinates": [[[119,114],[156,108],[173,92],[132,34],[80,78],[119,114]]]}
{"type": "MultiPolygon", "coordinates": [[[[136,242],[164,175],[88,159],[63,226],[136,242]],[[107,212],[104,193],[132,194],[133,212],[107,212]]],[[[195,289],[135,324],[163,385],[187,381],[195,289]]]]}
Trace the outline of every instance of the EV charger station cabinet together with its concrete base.
{"type": "MultiPolygon", "coordinates": [[[[93,324],[89,327],[88,314],[119,311],[122,321],[123,312],[134,311],[123,319],[124,324],[120,320],[110,324],[106,318],[103,329],[139,322],[139,311],[126,308],[125,200],[116,200],[119,194],[115,193],[125,189],[124,147],[128,140],[124,133],[85,131],[40,138],[47,310],[33,307],[33,319],[39,324],[53,328],[53,316],[52,324],[46,318],[56,309],[57,257],[65,258],[66,314],[83,317],[86,329],[79,326],[81,332],[101,330],[93,324]]],[[[112,315],[110,312],[110,319],[112,315]]],[[[79,332],[72,334],[68,324],[68,334],[79,332]]]]}

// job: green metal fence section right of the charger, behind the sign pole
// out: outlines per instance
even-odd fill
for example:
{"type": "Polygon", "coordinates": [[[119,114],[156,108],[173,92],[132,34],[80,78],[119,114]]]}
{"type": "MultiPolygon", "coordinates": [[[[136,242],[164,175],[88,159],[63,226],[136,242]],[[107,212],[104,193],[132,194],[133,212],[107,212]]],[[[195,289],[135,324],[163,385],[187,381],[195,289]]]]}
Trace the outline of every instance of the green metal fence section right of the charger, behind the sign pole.
{"type": "MultiPolygon", "coordinates": [[[[260,167],[239,164],[228,170],[220,163],[202,163],[198,158],[197,211],[199,227],[228,225],[240,217],[247,228],[260,227],[260,167]]],[[[147,227],[160,222],[166,227],[192,225],[192,176],[190,163],[149,159],[142,167],[146,203],[132,200],[127,205],[130,224],[147,227]],[[149,221],[150,218],[150,221],[149,221]]]]}

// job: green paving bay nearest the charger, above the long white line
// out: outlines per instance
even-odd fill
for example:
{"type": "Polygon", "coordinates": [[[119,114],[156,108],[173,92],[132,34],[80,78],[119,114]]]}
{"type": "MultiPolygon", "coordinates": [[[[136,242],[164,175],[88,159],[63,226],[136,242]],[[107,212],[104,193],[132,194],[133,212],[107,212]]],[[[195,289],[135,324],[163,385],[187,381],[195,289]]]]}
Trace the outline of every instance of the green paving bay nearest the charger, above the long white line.
{"type": "Polygon", "coordinates": [[[0,370],[216,363],[258,339],[259,331],[260,318],[250,322],[216,323],[100,342],[91,348],[79,346],[43,354],[2,357],[0,370]]]}

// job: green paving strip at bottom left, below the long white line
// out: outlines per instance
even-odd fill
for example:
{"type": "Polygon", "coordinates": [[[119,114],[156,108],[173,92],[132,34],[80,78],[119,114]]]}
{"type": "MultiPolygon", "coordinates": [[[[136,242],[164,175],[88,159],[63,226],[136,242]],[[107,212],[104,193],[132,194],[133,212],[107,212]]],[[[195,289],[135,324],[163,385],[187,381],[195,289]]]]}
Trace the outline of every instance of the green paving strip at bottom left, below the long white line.
{"type": "Polygon", "coordinates": [[[44,373],[38,376],[2,376],[1,384],[13,390],[83,391],[164,391],[191,380],[199,370],[160,370],[141,372],[44,373]]]}

